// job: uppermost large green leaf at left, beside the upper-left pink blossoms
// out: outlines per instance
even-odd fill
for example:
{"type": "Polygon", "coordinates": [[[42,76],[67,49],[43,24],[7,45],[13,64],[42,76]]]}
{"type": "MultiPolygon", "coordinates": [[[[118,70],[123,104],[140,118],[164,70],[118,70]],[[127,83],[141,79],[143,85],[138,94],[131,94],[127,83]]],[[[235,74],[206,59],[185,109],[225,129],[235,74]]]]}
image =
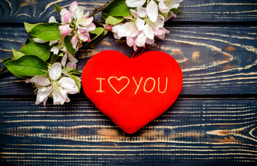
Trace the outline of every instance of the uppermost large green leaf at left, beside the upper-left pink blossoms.
{"type": "Polygon", "coordinates": [[[29,34],[33,37],[37,37],[38,39],[54,41],[62,37],[62,35],[60,35],[59,26],[60,24],[58,23],[38,24],[29,31],[29,34]]]}

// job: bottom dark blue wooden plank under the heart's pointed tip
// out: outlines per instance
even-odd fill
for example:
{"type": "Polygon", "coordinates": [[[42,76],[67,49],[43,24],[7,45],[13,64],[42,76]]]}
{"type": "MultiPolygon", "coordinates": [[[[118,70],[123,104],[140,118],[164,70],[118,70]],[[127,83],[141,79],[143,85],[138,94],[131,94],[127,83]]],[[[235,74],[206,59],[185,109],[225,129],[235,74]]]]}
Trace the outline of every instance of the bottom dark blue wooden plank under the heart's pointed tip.
{"type": "Polygon", "coordinates": [[[47,107],[0,100],[1,162],[9,165],[218,165],[257,161],[257,100],[178,99],[130,135],[87,99],[47,107]]]}

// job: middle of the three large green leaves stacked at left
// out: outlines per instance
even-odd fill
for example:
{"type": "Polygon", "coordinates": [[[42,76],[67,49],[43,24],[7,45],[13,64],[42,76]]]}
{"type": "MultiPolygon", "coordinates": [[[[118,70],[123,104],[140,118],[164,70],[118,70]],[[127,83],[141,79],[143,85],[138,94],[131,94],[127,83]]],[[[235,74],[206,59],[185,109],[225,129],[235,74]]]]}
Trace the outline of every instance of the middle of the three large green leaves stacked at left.
{"type": "Polygon", "coordinates": [[[46,61],[50,57],[50,46],[46,43],[39,44],[36,42],[31,42],[24,47],[22,47],[19,51],[26,55],[36,55],[40,57],[44,61],[46,61]]]}

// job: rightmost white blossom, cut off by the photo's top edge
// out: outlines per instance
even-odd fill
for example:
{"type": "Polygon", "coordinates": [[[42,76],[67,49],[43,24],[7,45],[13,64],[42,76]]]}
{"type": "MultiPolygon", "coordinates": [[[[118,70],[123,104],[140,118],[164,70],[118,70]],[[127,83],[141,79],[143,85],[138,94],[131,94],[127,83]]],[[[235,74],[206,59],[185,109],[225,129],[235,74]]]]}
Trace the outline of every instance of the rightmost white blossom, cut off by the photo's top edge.
{"type": "Polygon", "coordinates": [[[159,10],[162,13],[169,12],[172,8],[179,8],[179,3],[183,0],[158,0],[159,10]]]}

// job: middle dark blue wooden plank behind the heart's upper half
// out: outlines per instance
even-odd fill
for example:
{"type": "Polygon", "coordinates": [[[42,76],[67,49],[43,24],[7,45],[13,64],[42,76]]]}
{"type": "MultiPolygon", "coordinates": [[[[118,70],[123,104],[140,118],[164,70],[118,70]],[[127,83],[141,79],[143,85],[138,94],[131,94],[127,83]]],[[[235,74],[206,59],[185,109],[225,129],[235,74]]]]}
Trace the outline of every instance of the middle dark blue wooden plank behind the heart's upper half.
{"type": "MultiPolygon", "coordinates": [[[[257,42],[254,26],[171,26],[166,39],[146,46],[174,57],[184,73],[183,95],[256,94],[257,42]]],[[[11,47],[24,46],[24,28],[0,28],[1,59],[12,55],[11,47]]],[[[78,70],[101,50],[119,50],[131,56],[134,50],[125,40],[108,35],[89,49],[81,49],[78,70]]],[[[0,64],[3,66],[3,64],[0,64]]],[[[32,86],[8,72],[0,75],[0,95],[33,95],[32,86]],[[8,88],[12,87],[12,89],[8,88]]]]}

